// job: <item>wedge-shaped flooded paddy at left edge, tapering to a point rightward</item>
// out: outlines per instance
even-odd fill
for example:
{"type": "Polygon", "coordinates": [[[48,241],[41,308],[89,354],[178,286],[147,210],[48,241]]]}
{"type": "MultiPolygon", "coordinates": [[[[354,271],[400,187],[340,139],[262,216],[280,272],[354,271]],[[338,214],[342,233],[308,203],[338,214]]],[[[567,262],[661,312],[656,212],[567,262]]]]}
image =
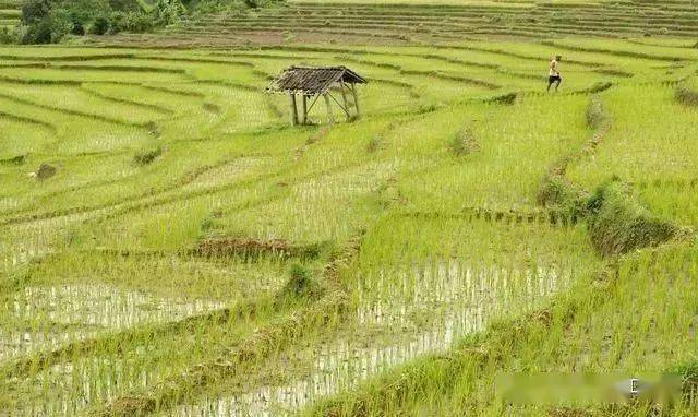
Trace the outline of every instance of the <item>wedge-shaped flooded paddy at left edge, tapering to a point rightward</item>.
{"type": "Polygon", "coordinates": [[[3,307],[0,360],[55,349],[101,332],[179,321],[225,307],[212,300],[161,298],[110,285],[27,287],[3,307]]]}

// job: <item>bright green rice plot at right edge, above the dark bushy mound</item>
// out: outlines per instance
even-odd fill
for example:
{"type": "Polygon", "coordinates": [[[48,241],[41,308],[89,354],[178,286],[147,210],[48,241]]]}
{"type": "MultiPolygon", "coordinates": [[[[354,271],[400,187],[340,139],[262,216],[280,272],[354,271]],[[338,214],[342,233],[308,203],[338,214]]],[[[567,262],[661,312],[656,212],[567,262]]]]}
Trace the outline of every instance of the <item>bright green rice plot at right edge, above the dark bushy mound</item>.
{"type": "Polygon", "coordinates": [[[610,91],[604,99],[613,119],[606,143],[592,160],[574,166],[571,178],[591,188],[616,175],[639,189],[640,200],[653,213],[696,225],[693,192],[688,191],[696,162],[685,151],[698,116],[695,109],[677,103],[670,86],[627,86],[610,91]],[[633,104],[627,96],[636,97],[633,104]],[[659,115],[667,114],[671,119],[657,122],[659,115]]]}

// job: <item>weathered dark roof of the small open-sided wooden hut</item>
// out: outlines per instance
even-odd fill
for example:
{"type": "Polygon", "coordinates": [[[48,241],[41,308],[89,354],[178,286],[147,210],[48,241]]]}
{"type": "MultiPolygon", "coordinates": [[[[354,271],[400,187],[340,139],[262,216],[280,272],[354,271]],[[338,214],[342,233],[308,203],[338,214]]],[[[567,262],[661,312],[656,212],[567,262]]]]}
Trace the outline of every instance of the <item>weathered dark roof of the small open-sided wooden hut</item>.
{"type": "Polygon", "coordinates": [[[290,67],[266,87],[267,93],[324,94],[339,81],[364,84],[366,80],[346,67],[290,67]]]}

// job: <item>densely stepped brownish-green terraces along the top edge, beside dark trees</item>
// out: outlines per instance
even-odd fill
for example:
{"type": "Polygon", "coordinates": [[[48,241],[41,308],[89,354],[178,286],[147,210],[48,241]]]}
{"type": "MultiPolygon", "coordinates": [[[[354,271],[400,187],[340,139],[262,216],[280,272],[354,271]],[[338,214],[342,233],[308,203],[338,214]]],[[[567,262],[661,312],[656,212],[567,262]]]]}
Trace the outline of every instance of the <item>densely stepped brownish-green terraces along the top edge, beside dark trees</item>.
{"type": "MultiPolygon", "coordinates": [[[[453,43],[483,37],[698,37],[698,4],[676,1],[289,1],[249,11],[193,14],[121,46],[453,43]]],[[[99,40],[99,39],[97,39],[99,40]]]]}

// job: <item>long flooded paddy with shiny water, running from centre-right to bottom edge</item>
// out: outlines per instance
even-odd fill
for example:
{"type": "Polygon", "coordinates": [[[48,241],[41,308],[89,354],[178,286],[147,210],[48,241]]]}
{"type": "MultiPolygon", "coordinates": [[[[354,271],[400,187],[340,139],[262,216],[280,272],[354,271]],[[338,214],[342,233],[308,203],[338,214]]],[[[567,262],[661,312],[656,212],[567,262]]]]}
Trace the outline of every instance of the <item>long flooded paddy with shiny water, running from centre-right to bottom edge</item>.
{"type": "MultiPolygon", "coordinates": [[[[405,330],[404,337],[350,335],[312,348],[310,372],[282,384],[238,395],[204,398],[169,416],[272,416],[298,412],[323,396],[424,354],[445,352],[460,337],[485,329],[492,319],[530,310],[569,286],[571,273],[555,267],[474,270],[441,262],[423,269],[384,271],[359,287],[358,327],[405,330]],[[414,325],[416,318],[429,323],[414,325]]],[[[279,372],[285,364],[278,364],[279,372]]],[[[288,366],[288,365],[286,365],[288,366]]]]}

